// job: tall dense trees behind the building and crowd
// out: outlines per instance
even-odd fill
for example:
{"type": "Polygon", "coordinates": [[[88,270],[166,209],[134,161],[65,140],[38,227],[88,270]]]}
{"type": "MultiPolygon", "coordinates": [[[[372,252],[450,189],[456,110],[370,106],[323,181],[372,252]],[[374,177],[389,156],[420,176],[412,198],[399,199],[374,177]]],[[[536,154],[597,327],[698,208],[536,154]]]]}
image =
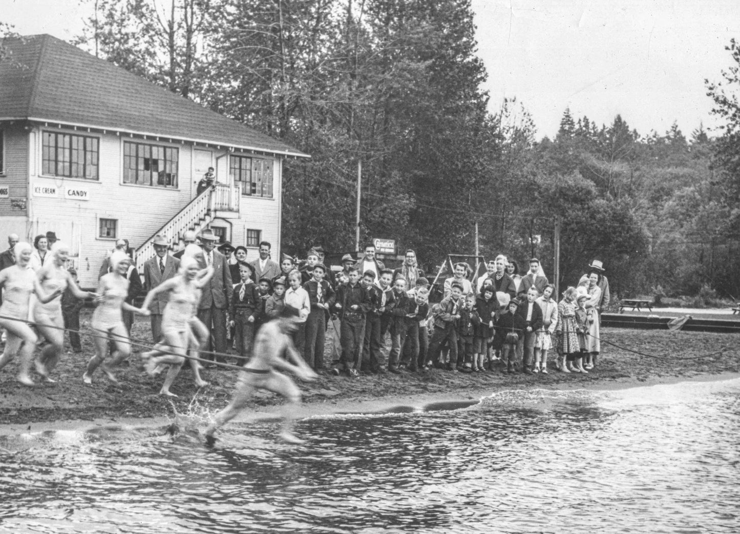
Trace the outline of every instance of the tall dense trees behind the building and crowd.
{"type": "MultiPolygon", "coordinates": [[[[472,253],[477,224],[483,256],[551,274],[559,225],[566,284],[599,258],[621,296],[740,297],[740,130],[641,134],[565,110],[538,141],[516,99],[489,111],[469,0],[158,5],[95,0],[75,44],[311,154],[284,167],[284,251],[354,249],[360,160],[362,238],[394,238],[427,270],[472,253]]],[[[736,72],[707,81],[728,124],[736,72]]]]}

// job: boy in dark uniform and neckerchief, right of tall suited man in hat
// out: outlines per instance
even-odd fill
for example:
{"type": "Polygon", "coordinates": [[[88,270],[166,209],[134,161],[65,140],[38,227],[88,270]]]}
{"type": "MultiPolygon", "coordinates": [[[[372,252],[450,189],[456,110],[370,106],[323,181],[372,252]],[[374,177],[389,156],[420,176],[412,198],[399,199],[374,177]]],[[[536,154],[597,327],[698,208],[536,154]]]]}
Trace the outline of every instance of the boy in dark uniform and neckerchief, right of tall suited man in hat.
{"type": "Polygon", "coordinates": [[[262,298],[260,290],[252,281],[252,265],[241,264],[239,277],[240,282],[236,284],[232,293],[229,326],[234,328],[234,342],[239,356],[244,358],[240,361],[243,364],[252,357],[252,344],[262,312],[262,298]]]}

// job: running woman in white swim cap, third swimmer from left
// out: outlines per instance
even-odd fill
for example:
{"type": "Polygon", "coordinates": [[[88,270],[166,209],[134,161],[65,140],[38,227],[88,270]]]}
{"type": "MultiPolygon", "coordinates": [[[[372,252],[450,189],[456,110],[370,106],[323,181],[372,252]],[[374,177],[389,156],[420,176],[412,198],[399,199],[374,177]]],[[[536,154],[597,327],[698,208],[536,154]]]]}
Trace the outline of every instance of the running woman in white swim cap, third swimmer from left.
{"type": "Polygon", "coordinates": [[[101,367],[108,379],[118,384],[118,379],[110,370],[110,367],[124,361],[131,352],[129,333],[124,325],[124,317],[121,310],[129,310],[134,313],[144,314],[139,308],[126,302],[129,294],[129,281],[126,274],[131,264],[131,258],[121,250],[114,250],[110,255],[111,272],[101,276],[98,282],[98,297],[95,298],[95,311],[92,312],[90,326],[93,330],[104,333],[104,336],[95,336],[95,356],[87,362],[87,371],[82,376],[85,384],[92,384],[92,373],[101,367]],[[103,363],[108,353],[108,342],[112,341],[115,346],[110,362],[103,363]]]}

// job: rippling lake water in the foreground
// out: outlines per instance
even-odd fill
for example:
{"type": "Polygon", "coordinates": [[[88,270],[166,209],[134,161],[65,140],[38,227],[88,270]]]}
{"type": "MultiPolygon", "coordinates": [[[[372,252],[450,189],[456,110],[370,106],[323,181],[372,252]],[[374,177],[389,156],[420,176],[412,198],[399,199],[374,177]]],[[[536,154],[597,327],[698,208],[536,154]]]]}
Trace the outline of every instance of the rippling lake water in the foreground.
{"type": "Polygon", "coordinates": [[[0,532],[740,531],[740,379],[466,404],[2,436],[0,532]]]}

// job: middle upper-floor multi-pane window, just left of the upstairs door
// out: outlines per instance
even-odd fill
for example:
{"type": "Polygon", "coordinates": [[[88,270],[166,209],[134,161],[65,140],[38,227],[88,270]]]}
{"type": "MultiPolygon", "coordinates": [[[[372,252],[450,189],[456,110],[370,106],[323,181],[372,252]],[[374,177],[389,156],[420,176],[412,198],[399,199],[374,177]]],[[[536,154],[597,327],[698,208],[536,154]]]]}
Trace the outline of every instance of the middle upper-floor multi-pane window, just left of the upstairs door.
{"type": "Polygon", "coordinates": [[[178,149],[124,141],[124,183],[178,187],[178,149]]]}

